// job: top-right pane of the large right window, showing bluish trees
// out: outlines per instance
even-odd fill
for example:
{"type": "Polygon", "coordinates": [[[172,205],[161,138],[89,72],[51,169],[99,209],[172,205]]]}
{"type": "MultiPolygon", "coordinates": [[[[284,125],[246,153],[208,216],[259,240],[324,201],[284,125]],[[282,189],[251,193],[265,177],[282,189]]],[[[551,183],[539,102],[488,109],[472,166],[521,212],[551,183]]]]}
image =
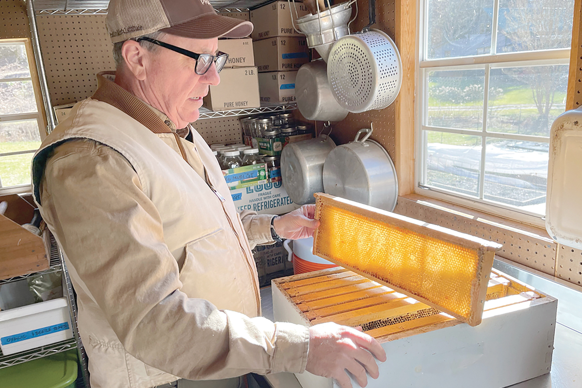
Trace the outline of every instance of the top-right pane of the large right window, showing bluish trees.
{"type": "Polygon", "coordinates": [[[574,0],[500,0],[497,52],[570,48],[574,0]]]}

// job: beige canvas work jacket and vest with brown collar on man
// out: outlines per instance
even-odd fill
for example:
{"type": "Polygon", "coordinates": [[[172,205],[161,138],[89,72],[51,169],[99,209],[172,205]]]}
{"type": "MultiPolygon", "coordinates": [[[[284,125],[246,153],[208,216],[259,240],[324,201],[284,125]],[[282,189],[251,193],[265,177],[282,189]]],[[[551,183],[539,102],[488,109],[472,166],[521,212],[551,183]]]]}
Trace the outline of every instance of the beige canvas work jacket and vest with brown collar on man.
{"type": "Polygon", "coordinates": [[[33,159],[34,198],[77,291],[91,386],[303,372],[307,328],[258,316],[251,245],[271,240],[271,216],[239,216],[195,130],[183,140],[98,78],[33,159]]]}

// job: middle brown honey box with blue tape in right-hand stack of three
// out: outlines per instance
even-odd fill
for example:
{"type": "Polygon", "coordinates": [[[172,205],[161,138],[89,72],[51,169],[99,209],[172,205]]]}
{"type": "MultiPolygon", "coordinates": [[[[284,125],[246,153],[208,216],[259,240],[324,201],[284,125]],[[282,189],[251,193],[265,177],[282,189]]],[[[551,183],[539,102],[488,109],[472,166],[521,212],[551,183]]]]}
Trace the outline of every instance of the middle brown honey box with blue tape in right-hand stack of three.
{"type": "Polygon", "coordinates": [[[309,62],[305,37],[276,37],[253,42],[255,65],[259,72],[299,70],[309,62]]]}

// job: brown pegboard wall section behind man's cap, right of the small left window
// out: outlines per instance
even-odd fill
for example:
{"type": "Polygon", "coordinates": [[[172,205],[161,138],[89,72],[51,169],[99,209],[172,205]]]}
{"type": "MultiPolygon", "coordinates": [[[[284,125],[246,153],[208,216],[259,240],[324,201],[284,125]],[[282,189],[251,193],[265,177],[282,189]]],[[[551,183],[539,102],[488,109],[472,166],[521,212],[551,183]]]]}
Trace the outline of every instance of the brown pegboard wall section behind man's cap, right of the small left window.
{"type": "Polygon", "coordinates": [[[42,15],[37,23],[52,105],[91,97],[95,74],[115,69],[105,15],[42,15]]]}

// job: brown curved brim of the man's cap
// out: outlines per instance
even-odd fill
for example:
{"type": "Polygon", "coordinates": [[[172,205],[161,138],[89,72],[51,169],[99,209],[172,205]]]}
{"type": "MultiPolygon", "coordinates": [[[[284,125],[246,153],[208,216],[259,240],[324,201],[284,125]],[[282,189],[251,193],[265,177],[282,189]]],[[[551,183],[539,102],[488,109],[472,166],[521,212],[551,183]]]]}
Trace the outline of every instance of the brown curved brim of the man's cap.
{"type": "Polygon", "coordinates": [[[244,38],[253,32],[253,23],[233,17],[207,13],[176,26],[161,30],[165,33],[187,38],[244,38]]]}

